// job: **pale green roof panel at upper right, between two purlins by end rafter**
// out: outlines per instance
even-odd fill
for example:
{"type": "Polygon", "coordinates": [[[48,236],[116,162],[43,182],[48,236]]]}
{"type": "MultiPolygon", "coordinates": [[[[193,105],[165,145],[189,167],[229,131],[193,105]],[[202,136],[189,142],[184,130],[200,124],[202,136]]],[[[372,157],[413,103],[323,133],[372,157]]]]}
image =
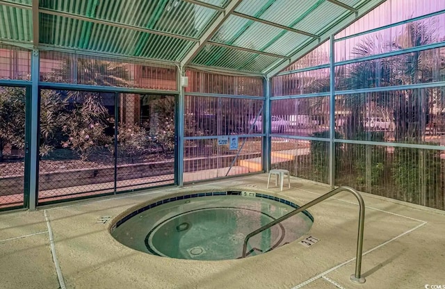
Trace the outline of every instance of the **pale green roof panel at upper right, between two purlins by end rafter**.
{"type": "Polygon", "coordinates": [[[348,10],[341,6],[337,6],[331,2],[325,2],[312,11],[310,17],[305,17],[305,19],[302,19],[296,26],[293,26],[293,28],[317,34],[346,12],[348,12],[348,10]]]}

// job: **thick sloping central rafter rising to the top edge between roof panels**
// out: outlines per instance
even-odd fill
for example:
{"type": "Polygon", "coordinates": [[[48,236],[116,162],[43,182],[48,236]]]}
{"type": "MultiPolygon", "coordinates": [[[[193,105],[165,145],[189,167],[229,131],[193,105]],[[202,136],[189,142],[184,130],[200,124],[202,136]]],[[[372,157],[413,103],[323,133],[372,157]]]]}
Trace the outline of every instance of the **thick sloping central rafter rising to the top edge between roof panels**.
{"type": "Polygon", "coordinates": [[[189,63],[191,63],[191,60],[195,58],[197,53],[200,52],[202,47],[207,44],[207,42],[212,38],[212,36],[218,31],[218,29],[223,25],[225,22],[225,19],[227,19],[232,13],[234,13],[234,10],[243,0],[232,0],[230,1],[229,5],[224,9],[224,11],[220,12],[220,15],[216,17],[216,19],[213,21],[213,23],[207,28],[207,31],[202,35],[200,40],[193,45],[192,49],[188,51],[186,56],[181,61],[181,65],[185,67],[189,63]]]}

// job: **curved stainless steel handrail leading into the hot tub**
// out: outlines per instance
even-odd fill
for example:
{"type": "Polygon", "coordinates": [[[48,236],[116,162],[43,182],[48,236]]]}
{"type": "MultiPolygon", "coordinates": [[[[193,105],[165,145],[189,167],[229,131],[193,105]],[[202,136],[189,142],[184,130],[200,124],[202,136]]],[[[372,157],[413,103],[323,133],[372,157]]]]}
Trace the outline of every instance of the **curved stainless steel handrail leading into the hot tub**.
{"type": "Polygon", "coordinates": [[[303,210],[306,210],[307,208],[310,208],[314,206],[315,204],[320,203],[321,201],[324,201],[327,198],[332,197],[333,195],[337,195],[339,192],[351,192],[357,200],[359,201],[359,231],[357,236],[357,256],[355,259],[355,274],[352,274],[350,276],[350,280],[355,283],[364,283],[366,279],[361,276],[360,271],[362,270],[362,250],[363,250],[363,229],[364,229],[364,201],[362,196],[354,190],[353,188],[343,186],[336,188],[334,190],[330,190],[330,192],[327,192],[325,195],[322,195],[321,197],[318,197],[312,201],[309,201],[309,203],[305,204],[304,206],[301,206],[300,208],[297,208],[296,210],[291,211],[290,213],[287,213],[286,215],[278,218],[277,220],[270,222],[268,224],[265,224],[264,226],[261,226],[261,228],[253,231],[252,233],[249,233],[248,236],[245,236],[244,239],[244,245],[243,245],[243,258],[245,258],[247,254],[247,247],[248,247],[248,241],[253,236],[257,235],[257,233],[261,233],[262,231],[269,229],[271,226],[274,226],[275,224],[278,224],[289,217],[292,217],[293,215],[296,215],[298,213],[301,213],[303,210]]]}

